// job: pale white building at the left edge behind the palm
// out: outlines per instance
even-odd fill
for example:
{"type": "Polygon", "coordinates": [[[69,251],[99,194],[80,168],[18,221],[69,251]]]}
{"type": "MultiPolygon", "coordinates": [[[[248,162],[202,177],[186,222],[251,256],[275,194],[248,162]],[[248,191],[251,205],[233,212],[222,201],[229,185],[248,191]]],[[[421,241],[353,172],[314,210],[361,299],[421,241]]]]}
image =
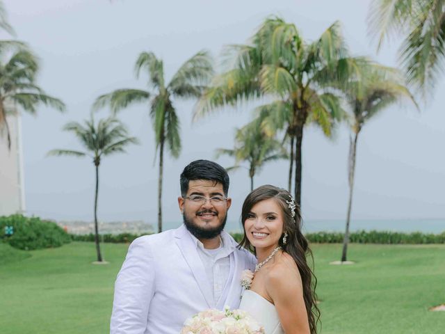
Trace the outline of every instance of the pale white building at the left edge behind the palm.
{"type": "Polygon", "coordinates": [[[0,216],[24,213],[22,124],[19,113],[8,115],[11,148],[6,129],[0,130],[0,216]]]}

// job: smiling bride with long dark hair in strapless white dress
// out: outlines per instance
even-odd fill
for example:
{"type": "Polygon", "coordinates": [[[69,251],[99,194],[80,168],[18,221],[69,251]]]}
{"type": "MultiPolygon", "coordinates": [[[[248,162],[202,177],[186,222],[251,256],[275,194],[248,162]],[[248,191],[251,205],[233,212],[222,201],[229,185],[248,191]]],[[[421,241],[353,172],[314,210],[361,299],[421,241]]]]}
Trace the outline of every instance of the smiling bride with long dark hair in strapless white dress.
{"type": "Polygon", "coordinates": [[[258,264],[252,279],[243,279],[240,308],[266,334],[316,333],[316,278],[306,261],[312,253],[301,232],[300,208],[288,191],[260,186],[245,198],[241,220],[240,246],[253,250],[258,264]]]}

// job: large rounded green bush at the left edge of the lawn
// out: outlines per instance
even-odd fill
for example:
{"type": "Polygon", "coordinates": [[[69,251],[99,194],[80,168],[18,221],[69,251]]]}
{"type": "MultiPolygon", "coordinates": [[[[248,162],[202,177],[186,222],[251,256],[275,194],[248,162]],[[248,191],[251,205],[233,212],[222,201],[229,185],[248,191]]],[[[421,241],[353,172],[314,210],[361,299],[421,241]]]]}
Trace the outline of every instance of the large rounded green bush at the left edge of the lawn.
{"type": "Polygon", "coordinates": [[[71,241],[70,234],[56,223],[21,214],[0,216],[0,239],[14,248],[23,250],[59,247],[71,241]],[[13,227],[13,235],[5,235],[6,226],[13,227]]]}

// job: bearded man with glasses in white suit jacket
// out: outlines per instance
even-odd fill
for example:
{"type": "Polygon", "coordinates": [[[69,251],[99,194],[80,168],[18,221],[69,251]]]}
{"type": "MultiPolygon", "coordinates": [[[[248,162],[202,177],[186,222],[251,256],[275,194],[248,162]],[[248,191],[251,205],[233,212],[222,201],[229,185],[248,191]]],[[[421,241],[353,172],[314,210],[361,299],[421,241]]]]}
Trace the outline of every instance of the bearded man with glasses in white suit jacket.
{"type": "Polygon", "coordinates": [[[223,231],[229,176],[197,160],[180,183],[184,225],[133,241],[115,283],[111,334],[177,334],[197,312],[238,308],[241,271],[256,260],[223,231]]]}

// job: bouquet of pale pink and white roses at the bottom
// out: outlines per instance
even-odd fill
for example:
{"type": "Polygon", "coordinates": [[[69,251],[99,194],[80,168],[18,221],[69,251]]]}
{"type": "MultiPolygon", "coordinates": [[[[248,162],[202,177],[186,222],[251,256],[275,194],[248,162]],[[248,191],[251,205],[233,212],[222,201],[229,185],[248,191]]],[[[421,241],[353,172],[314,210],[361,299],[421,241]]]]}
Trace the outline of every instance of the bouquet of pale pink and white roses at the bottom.
{"type": "Polygon", "coordinates": [[[264,334],[264,328],[243,310],[205,310],[187,319],[181,334],[264,334]]]}

